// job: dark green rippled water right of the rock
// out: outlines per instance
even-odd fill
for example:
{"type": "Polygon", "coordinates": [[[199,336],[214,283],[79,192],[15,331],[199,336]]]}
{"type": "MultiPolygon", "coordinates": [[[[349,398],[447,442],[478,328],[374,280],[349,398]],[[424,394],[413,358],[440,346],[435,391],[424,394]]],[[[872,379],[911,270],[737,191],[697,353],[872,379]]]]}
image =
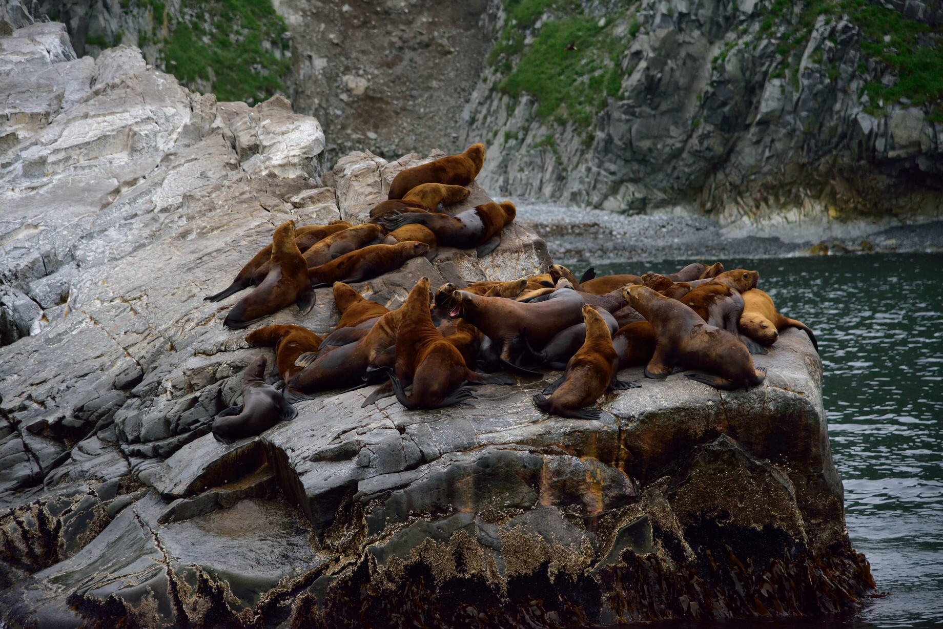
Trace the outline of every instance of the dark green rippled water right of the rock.
{"type": "MultiPolygon", "coordinates": [[[[716,626],[943,627],[943,256],[720,261],[758,271],[779,310],[815,330],[848,532],[888,595],[846,618],[716,626]]],[[[670,273],[687,263],[596,271],[670,273]]]]}

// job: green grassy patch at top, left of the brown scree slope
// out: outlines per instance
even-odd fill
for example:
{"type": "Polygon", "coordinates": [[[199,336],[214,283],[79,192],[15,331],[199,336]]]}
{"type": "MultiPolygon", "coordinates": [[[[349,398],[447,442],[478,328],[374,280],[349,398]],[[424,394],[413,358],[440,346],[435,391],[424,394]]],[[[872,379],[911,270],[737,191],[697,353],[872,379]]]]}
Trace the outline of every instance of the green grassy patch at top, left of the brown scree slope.
{"type": "Polygon", "coordinates": [[[184,0],[164,40],[167,72],[207,81],[221,101],[260,102],[282,91],[290,69],[285,21],[271,0],[184,0]]]}

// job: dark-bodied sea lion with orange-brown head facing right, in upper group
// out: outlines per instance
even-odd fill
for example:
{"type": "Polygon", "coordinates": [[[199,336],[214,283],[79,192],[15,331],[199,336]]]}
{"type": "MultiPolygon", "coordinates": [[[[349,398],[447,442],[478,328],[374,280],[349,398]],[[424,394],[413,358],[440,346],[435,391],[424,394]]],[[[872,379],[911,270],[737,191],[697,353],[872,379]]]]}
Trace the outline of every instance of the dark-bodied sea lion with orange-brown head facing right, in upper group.
{"type": "Polygon", "coordinates": [[[458,249],[477,248],[478,257],[485,257],[501,244],[501,230],[514,222],[517,208],[510,201],[486,203],[467,209],[455,216],[435,212],[388,214],[380,223],[388,231],[407,224],[423,224],[436,234],[438,244],[458,249]]]}

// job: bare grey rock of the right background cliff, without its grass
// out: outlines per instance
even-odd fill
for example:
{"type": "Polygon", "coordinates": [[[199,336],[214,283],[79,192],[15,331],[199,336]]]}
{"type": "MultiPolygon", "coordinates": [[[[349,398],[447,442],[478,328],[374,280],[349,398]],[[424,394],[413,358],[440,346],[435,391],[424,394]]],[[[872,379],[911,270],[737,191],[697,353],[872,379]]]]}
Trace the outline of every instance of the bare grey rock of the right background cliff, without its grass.
{"type": "MultiPolygon", "coordinates": [[[[876,231],[943,217],[943,124],[909,102],[882,104],[883,117],[865,111],[864,86],[883,79],[845,19],[819,16],[804,48],[784,57],[781,37],[802,30],[798,10],[767,32],[768,5],[756,2],[582,9],[608,17],[627,41],[618,95],[587,129],[541,121],[534,97],[510,98],[498,90],[505,74],[486,69],[459,138],[488,145],[479,177],[488,190],[629,214],[706,214],[741,235],[814,242],[845,236],[853,221],[876,231]],[[637,34],[627,37],[633,20],[637,34]]],[[[553,19],[541,18],[527,41],[553,19]]]]}

